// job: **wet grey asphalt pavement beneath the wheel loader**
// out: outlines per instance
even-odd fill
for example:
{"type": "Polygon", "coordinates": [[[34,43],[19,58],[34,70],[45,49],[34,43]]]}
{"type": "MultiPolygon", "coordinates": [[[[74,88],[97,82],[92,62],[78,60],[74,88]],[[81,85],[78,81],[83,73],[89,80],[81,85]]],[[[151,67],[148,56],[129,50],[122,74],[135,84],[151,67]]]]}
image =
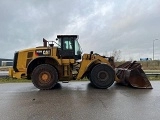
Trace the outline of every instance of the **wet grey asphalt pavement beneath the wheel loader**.
{"type": "Polygon", "coordinates": [[[32,83],[0,84],[1,120],[159,120],[160,81],[153,89],[114,84],[95,89],[88,81],[38,90],[32,83]]]}

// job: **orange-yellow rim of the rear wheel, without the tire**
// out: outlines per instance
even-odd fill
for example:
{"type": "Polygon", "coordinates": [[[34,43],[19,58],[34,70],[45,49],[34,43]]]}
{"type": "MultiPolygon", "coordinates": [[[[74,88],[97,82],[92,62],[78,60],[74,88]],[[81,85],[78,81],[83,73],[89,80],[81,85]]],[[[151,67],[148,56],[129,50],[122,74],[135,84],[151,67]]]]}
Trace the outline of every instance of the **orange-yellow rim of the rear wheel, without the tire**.
{"type": "Polygon", "coordinates": [[[49,83],[51,81],[51,75],[49,72],[41,72],[39,75],[40,83],[49,83]]]}

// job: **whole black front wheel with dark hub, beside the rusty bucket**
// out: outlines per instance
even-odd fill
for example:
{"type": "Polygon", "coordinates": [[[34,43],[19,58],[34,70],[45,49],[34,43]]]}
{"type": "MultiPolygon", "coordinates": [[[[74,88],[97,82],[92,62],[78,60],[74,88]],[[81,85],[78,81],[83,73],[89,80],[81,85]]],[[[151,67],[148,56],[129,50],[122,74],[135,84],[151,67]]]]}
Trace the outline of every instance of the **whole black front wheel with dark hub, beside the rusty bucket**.
{"type": "Polygon", "coordinates": [[[107,64],[98,64],[91,71],[90,81],[97,88],[108,88],[114,80],[115,71],[107,64]]]}

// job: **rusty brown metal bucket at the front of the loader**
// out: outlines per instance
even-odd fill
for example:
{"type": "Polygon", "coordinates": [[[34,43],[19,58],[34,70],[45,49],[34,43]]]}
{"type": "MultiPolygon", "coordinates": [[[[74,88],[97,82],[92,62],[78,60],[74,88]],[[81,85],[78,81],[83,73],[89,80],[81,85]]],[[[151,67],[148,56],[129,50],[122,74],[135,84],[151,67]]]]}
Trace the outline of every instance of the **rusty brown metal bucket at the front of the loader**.
{"type": "Polygon", "coordinates": [[[136,61],[125,62],[116,67],[117,83],[135,88],[152,88],[146,74],[141,68],[141,64],[136,61]]]}

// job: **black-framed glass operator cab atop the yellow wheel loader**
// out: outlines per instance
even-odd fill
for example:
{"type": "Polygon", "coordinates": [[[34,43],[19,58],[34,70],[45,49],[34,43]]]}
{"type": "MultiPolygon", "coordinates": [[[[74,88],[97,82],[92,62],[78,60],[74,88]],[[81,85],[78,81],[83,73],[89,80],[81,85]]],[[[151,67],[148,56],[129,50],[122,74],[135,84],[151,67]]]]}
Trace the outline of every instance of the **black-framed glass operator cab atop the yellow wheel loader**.
{"type": "Polygon", "coordinates": [[[81,59],[78,35],[57,35],[59,57],[63,59],[81,59]]]}

